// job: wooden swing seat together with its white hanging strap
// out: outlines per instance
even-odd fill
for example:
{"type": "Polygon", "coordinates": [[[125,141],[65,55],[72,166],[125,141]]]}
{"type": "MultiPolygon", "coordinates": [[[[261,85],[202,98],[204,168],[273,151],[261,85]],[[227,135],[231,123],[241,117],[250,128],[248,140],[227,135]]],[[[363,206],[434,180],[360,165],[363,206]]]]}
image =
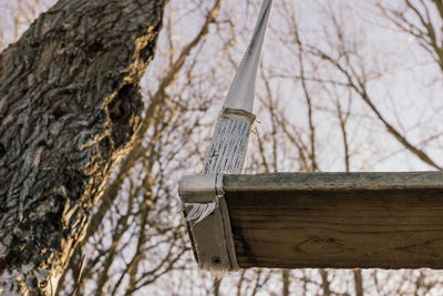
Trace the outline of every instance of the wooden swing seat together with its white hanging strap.
{"type": "Polygon", "coordinates": [[[200,271],[442,268],[440,172],[241,174],[271,6],[264,0],[204,173],[179,182],[200,271]]]}

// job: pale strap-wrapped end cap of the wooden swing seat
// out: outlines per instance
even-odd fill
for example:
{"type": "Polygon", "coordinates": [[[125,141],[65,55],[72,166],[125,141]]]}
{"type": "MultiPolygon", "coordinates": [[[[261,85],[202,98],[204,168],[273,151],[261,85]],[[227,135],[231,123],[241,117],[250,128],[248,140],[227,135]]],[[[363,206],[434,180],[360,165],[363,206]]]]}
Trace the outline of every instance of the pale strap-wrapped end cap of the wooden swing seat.
{"type": "Polygon", "coordinates": [[[179,181],[178,194],[187,217],[192,218],[189,231],[198,266],[215,276],[239,269],[224,196],[223,173],[184,176],[179,181]]]}

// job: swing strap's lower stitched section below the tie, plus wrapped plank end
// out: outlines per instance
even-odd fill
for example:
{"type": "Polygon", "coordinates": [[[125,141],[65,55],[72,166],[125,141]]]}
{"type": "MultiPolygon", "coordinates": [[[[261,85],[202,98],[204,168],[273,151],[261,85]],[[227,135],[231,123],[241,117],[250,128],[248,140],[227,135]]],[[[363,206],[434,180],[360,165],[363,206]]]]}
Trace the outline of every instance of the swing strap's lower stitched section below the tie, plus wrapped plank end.
{"type": "Polygon", "coordinates": [[[181,181],[179,194],[194,254],[200,271],[208,271],[214,277],[239,268],[223,195],[223,174],[218,172],[241,173],[255,119],[243,110],[224,109],[214,131],[206,174],[181,181]]]}

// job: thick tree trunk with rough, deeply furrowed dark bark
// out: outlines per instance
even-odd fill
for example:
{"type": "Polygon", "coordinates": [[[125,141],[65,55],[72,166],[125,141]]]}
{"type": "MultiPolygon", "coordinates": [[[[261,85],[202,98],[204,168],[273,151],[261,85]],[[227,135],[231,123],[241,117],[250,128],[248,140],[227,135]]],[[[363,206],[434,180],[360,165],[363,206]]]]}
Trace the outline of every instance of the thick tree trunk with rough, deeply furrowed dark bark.
{"type": "Polygon", "coordinates": [[[0,294],[51,295],[140,123],[167,0],[60,0],[0,55],[0,294]]]}

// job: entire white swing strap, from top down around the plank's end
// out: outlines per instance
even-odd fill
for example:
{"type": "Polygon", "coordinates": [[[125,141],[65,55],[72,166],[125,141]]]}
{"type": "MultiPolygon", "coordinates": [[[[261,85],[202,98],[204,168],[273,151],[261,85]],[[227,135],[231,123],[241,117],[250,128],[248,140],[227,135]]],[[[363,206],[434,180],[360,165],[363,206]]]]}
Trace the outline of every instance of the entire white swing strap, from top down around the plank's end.
{"type": "Polygon", "coordinates": [[[219,173],[240,174],[243,171],[256,120],[251,112],[257,68],[271,6],[272,0],[264,0],[251,41],[217,119],[204,175],[184,177],[179,185],[198,266],[215,277],[239,268],[219,173]]]}

